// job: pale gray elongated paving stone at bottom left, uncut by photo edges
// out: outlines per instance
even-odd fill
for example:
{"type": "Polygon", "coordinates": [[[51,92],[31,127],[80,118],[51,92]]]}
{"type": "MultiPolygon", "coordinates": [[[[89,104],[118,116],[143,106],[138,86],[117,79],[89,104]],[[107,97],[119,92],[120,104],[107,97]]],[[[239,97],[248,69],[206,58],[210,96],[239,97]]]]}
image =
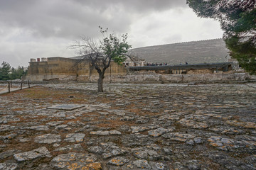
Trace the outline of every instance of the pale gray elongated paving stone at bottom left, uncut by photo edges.
{"type": "Polygon", "coordinates": [[[39,147],[28,152],[22,152],[20,154],[14,154],[14,159],[18,162],[28,161],[36,159],[38,157],[51,157],[50,152],[46,147],[39,147]]]}

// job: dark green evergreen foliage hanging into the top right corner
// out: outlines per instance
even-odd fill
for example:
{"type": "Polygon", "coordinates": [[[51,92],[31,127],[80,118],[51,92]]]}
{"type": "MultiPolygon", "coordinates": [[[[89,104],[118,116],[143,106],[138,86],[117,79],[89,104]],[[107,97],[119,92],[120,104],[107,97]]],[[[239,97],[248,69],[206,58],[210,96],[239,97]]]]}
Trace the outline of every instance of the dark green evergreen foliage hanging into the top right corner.
{"type": "Polygon", "coordinates": [[[200,17],[215,18],[224,30],[230,55],[250,74],[256,74],[255,0],[187,0],[200,17]]]}

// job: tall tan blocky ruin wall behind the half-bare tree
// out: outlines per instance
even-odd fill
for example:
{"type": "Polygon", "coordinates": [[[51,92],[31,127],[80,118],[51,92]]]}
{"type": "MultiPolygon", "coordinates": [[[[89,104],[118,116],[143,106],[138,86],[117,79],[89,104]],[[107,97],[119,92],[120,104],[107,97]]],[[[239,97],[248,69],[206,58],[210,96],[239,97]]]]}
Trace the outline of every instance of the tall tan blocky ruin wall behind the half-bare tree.
{"type": "MultiPolygon", "coordinates": [[[[44,59],[44,60],[43,60],[44,59]]],[[[78,77],[94,77],[97,71],[90,65],[90,62],[80,62],[76,67],[77,60],[64,57],[49,57],[47,60],[36,62],[32,60],[28,67],[26,79],[30,81],[70,81],[77,80],[78,77]]],[[[106,69],[105,75],[115,75],[127,73],[124,66],[112,62],[106,69]]],[[[87,79],[89,81],[90,79],[87,79]]]]}

